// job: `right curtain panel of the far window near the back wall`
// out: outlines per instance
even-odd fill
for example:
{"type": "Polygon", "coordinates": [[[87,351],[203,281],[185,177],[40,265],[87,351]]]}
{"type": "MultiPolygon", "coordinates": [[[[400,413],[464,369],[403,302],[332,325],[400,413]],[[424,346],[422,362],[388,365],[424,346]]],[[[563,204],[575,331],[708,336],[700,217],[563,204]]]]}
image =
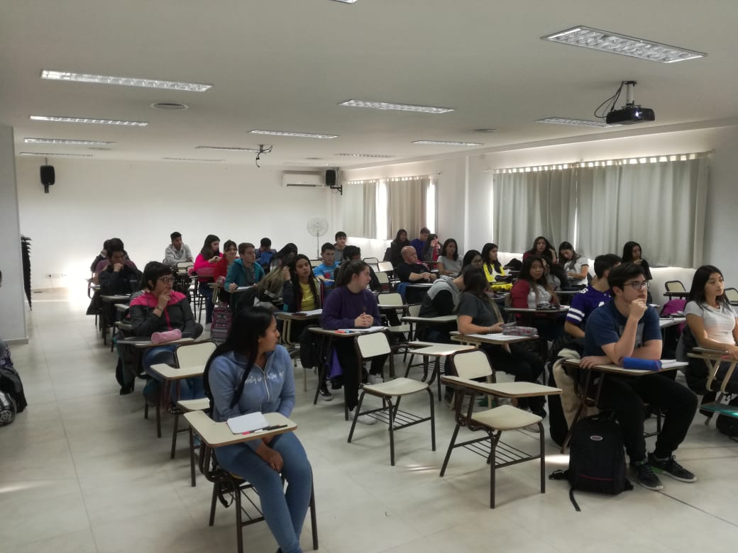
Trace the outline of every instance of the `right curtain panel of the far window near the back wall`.
{"type": "Polygon", "coordinates": [[[412,239],[420,229],[428,225],[426,197],[430,177],[405,177],[390,179],[387,184],[390,207],[390,236],[395,237],[399,229],[407,230],[412,239]]]}

